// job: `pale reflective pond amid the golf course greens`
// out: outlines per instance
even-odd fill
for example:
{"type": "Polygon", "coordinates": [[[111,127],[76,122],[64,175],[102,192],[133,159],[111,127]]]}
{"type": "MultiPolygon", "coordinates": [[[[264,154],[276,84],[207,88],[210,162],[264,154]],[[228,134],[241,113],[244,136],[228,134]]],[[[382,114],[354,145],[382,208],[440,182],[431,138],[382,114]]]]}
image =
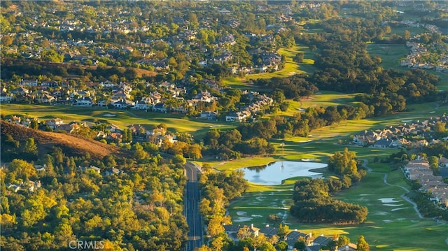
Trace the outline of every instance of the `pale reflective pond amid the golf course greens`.
{"type": "Polygon", "coordinates": [[[272,162],[265,166],[242,168],[244,178],[260,185],[281,185],[282,180],[292,177],[322,178],[322,173],[309,171],[327,164],[314,162],[272,162]]]}

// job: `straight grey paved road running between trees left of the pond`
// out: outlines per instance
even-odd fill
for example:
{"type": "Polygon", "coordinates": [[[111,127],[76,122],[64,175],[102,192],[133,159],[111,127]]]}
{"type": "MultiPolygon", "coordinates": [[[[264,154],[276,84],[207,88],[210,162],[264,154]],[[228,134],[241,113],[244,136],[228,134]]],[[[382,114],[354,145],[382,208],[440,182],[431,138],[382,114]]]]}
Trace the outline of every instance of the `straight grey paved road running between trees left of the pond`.
{"type": "Polygon", "coordinates": [[[196,248],[200,248],[202,242],[202,219],[199,213],[200,191],[197,187],[197,173],[199,170],[194,164],[185,164],[187,175],[187,191],[186,191],[186,204],[185,215],[187,219],[188,227],[188,242],[187,251],[194,251],[196,248]]]}

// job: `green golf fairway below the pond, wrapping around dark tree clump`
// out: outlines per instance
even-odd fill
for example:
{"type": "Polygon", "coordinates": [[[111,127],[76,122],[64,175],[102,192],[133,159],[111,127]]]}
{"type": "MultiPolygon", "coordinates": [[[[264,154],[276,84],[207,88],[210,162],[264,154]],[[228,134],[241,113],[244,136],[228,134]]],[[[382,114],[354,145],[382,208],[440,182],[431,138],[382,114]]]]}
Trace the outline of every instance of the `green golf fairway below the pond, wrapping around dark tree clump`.
{"type": "Polygon", "coordinates": [[[231,204],[228,211],[234,224],[253,223],[255,227],[261,227],[267,224],[268,215],[277,214],[290,229],[304,233],[312,232],[328,237],[344,234],[355,243],[358,236],[363,235],[370,244],[370,250],[428,250],[428,243],[432,243],[430,250],[447,250],[444,240],[448,237],[448,224],[418,217],[412,204],[401,197],[405,190],[397,187],[408,187],[402,173],[399,170],[391,171],[388,166],[379,163],[371,167],[374,172],[369,173],[363,182],[335,196],[335,199],[367,206],[367,220],[357,226],[296,222],[288,213],[293,203],[291,189],[295,178],[278,186],[251,185],[241,199],[231,204]],[[387,181],[392,186],[384,184],[384,173],[375,173],[377,171],[386,171],[387,181]]]}

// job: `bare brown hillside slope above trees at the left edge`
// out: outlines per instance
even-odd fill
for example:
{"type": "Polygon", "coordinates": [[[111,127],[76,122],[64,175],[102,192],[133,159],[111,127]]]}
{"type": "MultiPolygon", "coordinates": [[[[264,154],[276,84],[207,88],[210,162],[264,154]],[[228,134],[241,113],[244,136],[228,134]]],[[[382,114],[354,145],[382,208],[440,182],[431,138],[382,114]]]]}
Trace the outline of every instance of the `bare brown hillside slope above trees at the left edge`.
{"type": "Polygon", "coordinates": [[[38,145],[39,155],[51,153],[53,146],[62,148],[66,155],[82,156],[88,153],[92,159],[102,159],[106,155],[117,155],[119,157],[129,157],[130,155],[123,148],[106,145],[83,136],[33,130],[4,121],[1,121],[0,125],[1,136],[10,134],[16,141],[20,141],[20,145],[24,145],[27,138],[34,138],[38,145]]]}

